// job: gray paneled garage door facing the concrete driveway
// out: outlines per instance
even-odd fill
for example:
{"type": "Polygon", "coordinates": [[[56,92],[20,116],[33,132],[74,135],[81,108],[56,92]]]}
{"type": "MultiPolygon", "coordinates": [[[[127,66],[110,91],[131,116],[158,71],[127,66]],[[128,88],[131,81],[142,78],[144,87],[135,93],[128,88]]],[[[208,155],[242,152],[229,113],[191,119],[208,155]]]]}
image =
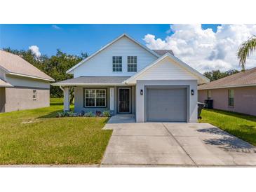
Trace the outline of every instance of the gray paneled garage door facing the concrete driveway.
{"type": "Polygon", "coordinates": [[[147,121],[187,121],[186,88],[147,88],[147,121]]]}

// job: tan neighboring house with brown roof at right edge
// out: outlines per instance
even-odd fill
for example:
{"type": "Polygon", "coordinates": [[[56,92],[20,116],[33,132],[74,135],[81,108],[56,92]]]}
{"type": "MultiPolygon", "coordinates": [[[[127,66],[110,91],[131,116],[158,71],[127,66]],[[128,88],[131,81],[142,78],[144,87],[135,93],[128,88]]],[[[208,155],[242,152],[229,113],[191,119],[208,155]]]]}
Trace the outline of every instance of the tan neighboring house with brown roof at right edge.
{"type": "Polygon", "coordinates": [[[214,109],[256,116],[256,67],[198,86],[198,101],[214,109]]]}

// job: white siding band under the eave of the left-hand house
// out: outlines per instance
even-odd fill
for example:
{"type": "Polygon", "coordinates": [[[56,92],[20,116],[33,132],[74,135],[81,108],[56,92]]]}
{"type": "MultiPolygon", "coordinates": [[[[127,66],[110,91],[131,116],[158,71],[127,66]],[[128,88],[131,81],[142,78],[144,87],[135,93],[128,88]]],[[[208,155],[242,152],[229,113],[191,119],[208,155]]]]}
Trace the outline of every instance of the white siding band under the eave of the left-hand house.
{"type": "Polygon", "coordinates": [[[34,78],[25,78],[18,76],[6,75],[6,81],[14,86],[30,87],[30,88],[50,88],[50,83],[47,81],[40,81],[34,78]]]}

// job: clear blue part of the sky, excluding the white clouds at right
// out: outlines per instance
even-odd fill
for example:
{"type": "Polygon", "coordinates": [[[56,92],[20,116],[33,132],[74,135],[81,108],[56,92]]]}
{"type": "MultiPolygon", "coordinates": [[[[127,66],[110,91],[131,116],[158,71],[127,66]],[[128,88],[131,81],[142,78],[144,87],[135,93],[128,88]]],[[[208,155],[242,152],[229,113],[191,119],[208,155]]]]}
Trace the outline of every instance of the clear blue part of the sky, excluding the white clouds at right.
{"type": "MultiPolygon", "coordinates": [[[[202,25],[203,29],[217,25],[202,25]]],[[[142,40],[147,34],[165,39],[170,25],[0,25],[0,48],[27,50],[38,46],[41,54],[55,55],[56,49],[78,55],[94,53],[117,36],[127,33],[134,39],[142,40]],[[57,26],[57,27],[56,27],[57,26]]],[[[172,34],[173,32],[170,32],[172,34]]],[[[169,35],[170,35],[169,34],[169,35]]]]}

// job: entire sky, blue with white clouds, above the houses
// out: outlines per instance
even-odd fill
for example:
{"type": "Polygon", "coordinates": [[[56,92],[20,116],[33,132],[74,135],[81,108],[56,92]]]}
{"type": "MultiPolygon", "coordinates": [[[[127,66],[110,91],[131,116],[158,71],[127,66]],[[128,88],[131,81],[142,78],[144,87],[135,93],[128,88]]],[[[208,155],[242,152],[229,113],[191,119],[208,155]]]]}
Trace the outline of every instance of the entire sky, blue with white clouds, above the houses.
{"type": "MultiPolygon", "coordinates": [[[[36,55],[89,55],[127,33],[151,49],[171,49],[198,71],[240,69],[237,51],[256,34],[256,25],[0,25],[0,48],[30,49],[36,55]]],[[[255,67],[256,55],[246,67],[255,67]]]]}

